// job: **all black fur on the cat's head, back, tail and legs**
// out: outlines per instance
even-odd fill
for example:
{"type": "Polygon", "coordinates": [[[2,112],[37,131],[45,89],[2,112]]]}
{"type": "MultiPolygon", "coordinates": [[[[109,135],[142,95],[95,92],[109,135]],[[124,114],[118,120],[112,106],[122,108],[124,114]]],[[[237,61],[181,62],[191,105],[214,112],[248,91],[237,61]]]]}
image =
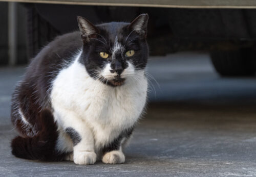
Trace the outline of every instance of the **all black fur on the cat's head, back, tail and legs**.
{"type": "MultiPolygon", "coordinates": [[[[50,102],[52,81],[60,70],[74,61],[74,56],[81,50],[79,62],[94,79],[98,77],[95,71],[102,69],[106,62],[111,63],[113,70],[118,68],[120,72],[127,67],[129,60],[137,70],[144,69],[148,57],[147,18],[147,15],[143,14],[132,23],[111,22],[97,26],[93,26],[84,18],[78,18],[80,32],[59,36],[42,48],[32,59],[23,81],[16,86],[12,95],[11,121],[20,135],[12,140],[13,155],[43,161],[63,160],[65,154],[58,153],[55,149],[58,132],[50,102]],[[87,21],[86,28],[82,26],[84,20],[87,21]],[[141,21],[143,23],[140,24],[141,21]],[[138,24],[141,28],[137,28],[138,24]],[[84,30],[88,29],[94,33],[87,35],[84,30]],[[111,56],[116,37],[123,47],[113,57],[105,60],[100,58],[100,52],[107,52],[111,56]],[[124,53],[131,49],[135,50],[135,55],[130,58],[125,57],[124,53]],[[20,112],[29,125],[24,123],[20,112]]],[[[116,87],[121,85],[124,79],[117,77],[113,81],[102,82],[116,87]]],[[[103,151],[117,149],[122,138],[129,137],[132,130],[133,128],[122,132],[112,143],[106,145],[103,151]]],[[[79,136],[73,130],[68,129],[67,133],[71,136],[74,145],[80,142],[79,136]]]]}

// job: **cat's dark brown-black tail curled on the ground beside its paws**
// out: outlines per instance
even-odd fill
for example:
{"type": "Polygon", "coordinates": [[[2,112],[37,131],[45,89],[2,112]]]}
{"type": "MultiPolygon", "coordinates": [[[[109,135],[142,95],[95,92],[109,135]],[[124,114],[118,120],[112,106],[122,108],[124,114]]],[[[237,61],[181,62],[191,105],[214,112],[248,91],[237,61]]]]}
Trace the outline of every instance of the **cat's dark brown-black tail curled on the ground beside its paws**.
{"type": "Polygon", "coordinates": [[[58,132],[50,110],[43,110],[41,112],[38,125],[40,131],[34,137],[17,136],[12,140],[12,154],[23,159],[41,161],[63,160],[65,154],[58,153],[55,147],[58,132]]]}

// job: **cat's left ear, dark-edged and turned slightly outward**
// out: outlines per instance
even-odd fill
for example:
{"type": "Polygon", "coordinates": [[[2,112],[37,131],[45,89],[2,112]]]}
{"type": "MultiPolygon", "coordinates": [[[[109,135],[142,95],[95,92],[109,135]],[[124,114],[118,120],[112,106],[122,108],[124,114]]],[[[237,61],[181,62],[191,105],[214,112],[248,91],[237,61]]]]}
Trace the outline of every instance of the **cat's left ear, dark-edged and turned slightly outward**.
{"type": "Polygon", "coordinates": [[[90,42],[91,38],[96,38],[99,29],[95,27],[88,19],[77,16],[77,22],[83,42],[90,42]]]}

